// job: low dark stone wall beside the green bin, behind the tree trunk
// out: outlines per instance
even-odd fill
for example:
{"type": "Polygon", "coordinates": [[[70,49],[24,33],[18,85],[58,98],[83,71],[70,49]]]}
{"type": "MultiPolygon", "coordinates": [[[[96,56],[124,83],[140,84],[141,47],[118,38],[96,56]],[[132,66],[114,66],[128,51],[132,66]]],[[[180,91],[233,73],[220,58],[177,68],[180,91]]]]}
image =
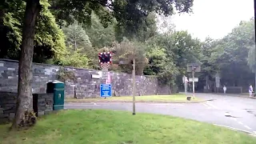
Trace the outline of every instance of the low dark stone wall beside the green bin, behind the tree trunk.
{"type": "MultiPolygon", "coordinates": [[[[53,94],[33,94],[33,109],[37,116],[53,110],[53,94]]],[[[11,121],[15,116],[17,93],[0,91],[0,123],[11,121]]]]}

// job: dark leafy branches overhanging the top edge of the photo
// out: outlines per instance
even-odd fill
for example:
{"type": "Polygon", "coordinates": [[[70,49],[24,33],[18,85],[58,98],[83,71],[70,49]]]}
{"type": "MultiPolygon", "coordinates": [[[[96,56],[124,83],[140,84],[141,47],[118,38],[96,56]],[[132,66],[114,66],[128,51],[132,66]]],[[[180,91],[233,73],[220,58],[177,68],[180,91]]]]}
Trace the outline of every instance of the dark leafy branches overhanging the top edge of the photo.
{"type": "MultiPolygon", "coordinates": [[[[171,15],[174,10],[178,12],[190,12],[193,0],[174,1],[83,1],[83,0],[51,0],[52,11],[58,23],[63,24],[63,20],[67,23],[74,23],[77,19],[79,23],[85,26],[92,24],[91,15],[93,11],[98,15],[102,26],[110,26],[110,23],[117,21],[115,30],[118,35],[126,36],[126,38],[134,38],[142,29],[150,29],[150,22],[147,17],[151,12],[156,14],[171,15]]],[[[121,41],[122,39],[118,39],[121,41]]]]}

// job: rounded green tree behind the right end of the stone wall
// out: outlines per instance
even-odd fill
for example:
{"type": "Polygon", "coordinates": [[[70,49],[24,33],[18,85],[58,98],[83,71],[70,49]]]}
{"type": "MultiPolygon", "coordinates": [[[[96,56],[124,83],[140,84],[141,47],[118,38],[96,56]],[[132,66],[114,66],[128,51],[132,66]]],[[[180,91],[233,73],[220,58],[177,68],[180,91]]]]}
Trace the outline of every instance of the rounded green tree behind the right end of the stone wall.
{"type": "Polygon", "coordinates": [[[146,43],[149,46],[147,57],[150,65],[146,67],[144,73],[158,74],[160,82],[169,83],[174,88],[173,91],[182,84],[186,65],[201,60],[201,42],[192,38],[187,31],[158,34],[146,43]]]}

